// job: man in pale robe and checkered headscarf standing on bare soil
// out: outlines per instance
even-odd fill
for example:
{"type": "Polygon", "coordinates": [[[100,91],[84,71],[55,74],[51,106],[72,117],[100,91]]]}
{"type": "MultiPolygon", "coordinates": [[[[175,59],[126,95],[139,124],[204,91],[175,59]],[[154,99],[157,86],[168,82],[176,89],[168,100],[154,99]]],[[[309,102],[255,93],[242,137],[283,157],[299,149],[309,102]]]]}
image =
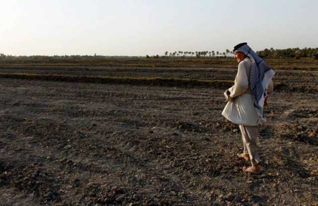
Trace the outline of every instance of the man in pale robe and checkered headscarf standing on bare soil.
{"type": "Polygon", "coordinates": [[[235,46],[233,51],[239,62],[238,74],[234,86],[226,90],[225,96],[228,101],[235,101],[237,98],[237,107],[231,108],[237,109],[239,115],[233,117],[226,114],[226,108],[222,115],[231,122],[239,124],[244,151],[238,155],[252,164],[248,168],[243,167],[243,171],[261,174],[260,158],[256,151],[258,123],[261,120],[266,121],[263,116],[263,106],[269,93],[272,92],[271,79],[275,72],[247,46],[247,43],[235,46]]]}

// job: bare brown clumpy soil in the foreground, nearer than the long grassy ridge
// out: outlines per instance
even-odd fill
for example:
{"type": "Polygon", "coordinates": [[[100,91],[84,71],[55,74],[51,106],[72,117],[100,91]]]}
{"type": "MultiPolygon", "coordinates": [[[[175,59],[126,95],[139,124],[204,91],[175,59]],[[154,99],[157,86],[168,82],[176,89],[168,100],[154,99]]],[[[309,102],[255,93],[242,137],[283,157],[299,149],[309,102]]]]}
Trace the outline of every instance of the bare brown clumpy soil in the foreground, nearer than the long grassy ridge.
{"type": "Polygon", "coordinates": [[[0,79],[0,205],[318,205],[317,101],[271,96],[254,176],[223,89],[0,79]]]}

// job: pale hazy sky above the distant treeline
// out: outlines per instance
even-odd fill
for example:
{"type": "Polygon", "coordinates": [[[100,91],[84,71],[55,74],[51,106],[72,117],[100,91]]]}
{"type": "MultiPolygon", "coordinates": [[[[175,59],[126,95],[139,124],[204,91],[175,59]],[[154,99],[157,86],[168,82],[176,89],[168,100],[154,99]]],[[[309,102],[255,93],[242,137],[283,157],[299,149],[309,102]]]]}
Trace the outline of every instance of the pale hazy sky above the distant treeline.
{"type": "Polygon", "coordinates": [[[318,0],[0,0],[0,53],[316,48],[317,19],[318,0]]]}

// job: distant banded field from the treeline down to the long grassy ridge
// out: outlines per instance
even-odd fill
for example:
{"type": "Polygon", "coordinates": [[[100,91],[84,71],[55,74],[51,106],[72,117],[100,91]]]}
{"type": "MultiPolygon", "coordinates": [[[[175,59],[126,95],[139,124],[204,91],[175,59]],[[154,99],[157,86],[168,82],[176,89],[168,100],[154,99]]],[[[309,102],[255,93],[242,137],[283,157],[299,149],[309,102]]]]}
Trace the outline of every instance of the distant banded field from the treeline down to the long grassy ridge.
{"type": "MultiPolygon", "coordinates": [[[[291,91],[318,88],[318,60],[265,59],[276,71],[274,82],[291,91]]],[[[180,87],[219,87],[232,84],[234,58],[90,58],[0,60],[5,78],[180,87]]]]}

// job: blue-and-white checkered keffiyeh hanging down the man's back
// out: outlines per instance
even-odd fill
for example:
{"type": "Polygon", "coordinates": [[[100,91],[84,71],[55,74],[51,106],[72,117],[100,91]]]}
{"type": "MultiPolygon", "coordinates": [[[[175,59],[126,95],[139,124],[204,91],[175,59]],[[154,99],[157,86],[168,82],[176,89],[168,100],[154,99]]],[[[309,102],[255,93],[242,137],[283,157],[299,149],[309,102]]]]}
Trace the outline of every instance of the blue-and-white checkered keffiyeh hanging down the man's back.
{"type": "Polygon", "coordinates": [[[259,117],[263,121],[266,121],[263,116],[264,98],[266,96],[266,88],[275,75],[275,72],[249,46],[243,45],[236,51],[243,52],[252,62],[250,70],[250,90],[254,97],[254,106],[259,117]]]}

